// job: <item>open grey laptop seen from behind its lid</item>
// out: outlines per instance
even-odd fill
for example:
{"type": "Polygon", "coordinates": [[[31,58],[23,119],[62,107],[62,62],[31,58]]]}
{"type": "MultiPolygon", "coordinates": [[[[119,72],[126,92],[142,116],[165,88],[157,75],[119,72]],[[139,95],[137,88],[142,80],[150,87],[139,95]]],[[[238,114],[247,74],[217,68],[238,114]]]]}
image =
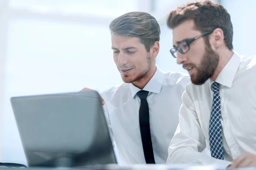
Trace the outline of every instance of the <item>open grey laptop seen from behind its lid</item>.
{"type": "Polygon", "coordinates": [[[29,167],[116,164],[96,91],[11,98],[29,167]]]}

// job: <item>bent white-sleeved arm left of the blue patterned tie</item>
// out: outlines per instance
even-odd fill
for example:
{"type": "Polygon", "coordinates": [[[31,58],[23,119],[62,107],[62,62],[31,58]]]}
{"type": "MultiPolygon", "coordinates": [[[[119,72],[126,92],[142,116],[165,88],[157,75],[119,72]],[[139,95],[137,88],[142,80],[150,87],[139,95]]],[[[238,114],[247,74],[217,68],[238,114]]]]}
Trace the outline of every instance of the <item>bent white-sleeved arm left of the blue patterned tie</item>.
{"type": "Polygon", "coordinates": [[[167,164],[219,164],[227,167],[231,162],[218,160],[201,153],[206,148],[205,136],[198,121],[189,86],[182,95],[179,125],[168,149],[167,164]]]}

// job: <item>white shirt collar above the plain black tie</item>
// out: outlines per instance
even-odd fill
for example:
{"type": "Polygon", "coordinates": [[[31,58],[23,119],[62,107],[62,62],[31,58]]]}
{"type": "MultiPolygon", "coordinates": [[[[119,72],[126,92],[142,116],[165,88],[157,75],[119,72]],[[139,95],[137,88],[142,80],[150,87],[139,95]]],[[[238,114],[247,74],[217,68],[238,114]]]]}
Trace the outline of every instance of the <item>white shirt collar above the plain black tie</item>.
{"type": "MultiPolygon", "coordinates": [[[[163,79],[164,79],[164,73],[163,71],[160,70],[160,68],[157,67],[155,74],[149,80],[148,84],[145,85],[143,90],[159,94],[163,85],[163,79]]],[[[132,83],[130,83],[129,85],[131,90],[131,96],[134,98],[137,92],[140,91],[141,89],[137,88],[132,83]]]]}

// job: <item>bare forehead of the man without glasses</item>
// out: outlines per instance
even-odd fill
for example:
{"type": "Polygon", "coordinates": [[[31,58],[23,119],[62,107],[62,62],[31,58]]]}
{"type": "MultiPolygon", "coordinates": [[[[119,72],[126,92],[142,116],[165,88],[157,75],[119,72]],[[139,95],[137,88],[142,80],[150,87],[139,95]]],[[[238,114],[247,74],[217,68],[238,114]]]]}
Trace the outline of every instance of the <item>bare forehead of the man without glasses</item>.
{"type": "Polygon", "coordinates": [[[123,48],[125,46],[143,45],[138,37],[111,34],[112,46],[115,48],[123,48]]]}

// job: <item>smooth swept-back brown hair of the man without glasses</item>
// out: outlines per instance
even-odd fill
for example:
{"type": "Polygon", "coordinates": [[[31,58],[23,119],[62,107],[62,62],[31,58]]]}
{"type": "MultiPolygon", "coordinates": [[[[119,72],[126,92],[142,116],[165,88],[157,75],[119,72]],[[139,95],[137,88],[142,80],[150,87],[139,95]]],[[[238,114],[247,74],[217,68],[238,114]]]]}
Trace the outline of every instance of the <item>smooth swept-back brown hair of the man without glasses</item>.
{"type": "Polygon", "coordinates": [[[111,34],[139,37],[150,51],[154,42],[160,40],[160,26],[157,20],[146,12],[129,12],[111,21],[111,34]]]}

